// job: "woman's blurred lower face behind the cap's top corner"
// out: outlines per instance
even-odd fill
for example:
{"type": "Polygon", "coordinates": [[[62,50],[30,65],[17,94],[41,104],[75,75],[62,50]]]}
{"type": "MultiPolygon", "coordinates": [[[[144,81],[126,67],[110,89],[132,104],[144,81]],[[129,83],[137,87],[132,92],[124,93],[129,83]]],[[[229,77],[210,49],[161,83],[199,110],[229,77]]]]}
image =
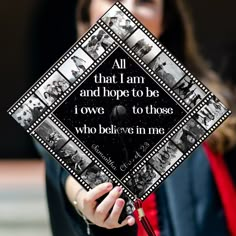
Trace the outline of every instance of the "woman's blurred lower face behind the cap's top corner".
{"type": "MultiPolygon", "coordinates": [[[[90,24],[95,24],[115,2],[92,0],[89,9],[90,24]]],[[[163,0],[123,0],[121,3],[157,38],[160,37],[163,31],[163,0]]]]}

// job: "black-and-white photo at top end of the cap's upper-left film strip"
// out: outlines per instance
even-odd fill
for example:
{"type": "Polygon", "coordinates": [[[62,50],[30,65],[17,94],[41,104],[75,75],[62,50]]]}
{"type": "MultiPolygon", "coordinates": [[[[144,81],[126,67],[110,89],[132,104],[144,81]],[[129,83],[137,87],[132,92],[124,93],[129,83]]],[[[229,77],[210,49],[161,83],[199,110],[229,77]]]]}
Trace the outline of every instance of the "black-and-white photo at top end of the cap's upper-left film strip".
{"type": "Polygon", "coordinates": [[[96,60],[113,42],[114,40],[103,29],[99,28],[83,43],[82,47],[96,60]]]}

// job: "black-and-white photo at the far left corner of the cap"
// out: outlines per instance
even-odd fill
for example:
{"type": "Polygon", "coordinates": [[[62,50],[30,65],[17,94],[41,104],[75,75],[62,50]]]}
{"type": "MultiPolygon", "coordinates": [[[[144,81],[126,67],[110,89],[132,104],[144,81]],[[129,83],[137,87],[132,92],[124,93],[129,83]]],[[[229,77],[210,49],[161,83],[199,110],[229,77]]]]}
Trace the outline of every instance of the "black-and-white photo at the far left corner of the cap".
{"type": "Polygon", "coordinates": [[[12,115],[25,129],[28,129],[46,110],[46,106],[35,95],[30,96],[12,115]]]}

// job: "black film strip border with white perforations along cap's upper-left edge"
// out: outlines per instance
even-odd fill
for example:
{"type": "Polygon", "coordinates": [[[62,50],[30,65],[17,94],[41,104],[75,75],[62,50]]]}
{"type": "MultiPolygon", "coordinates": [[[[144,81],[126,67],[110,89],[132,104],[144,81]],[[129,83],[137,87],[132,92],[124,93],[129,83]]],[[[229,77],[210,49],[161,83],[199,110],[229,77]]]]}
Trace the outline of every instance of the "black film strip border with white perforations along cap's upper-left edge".
{"type": "MultiPolygon", "coordinates": [[[[111,52],[117,47],[117,44],[113,43],[104,52],[99,55],[97,59],[94,59],[89,55],[82,45],[88,40],[96,31],[101,30],[101,28],[96,24],[79,40],[77,41],[28,91],[8,110],[8,113],[13,116],[18,123],[20,123],[28,133],[30,133],[34,127],[36,127],[48,114],[52,112],[58,105],[60,105],[76,88],[79,84],[88,76],[111,52]],[[71,82],[61,71],[60,68],[65,64],[65,62],[78,50],[83,53],[90,60],[90,65],[86,70],[74,81],[71,82]],[[39,95],[39,89],[45,83],[49,83],[52,77],[59,77],[67,85],[63,93],[56,98],[53,102],[47,103],[39,95]],[[29,103],[36,101],[40,110],[37,114],[33,116],[28,124],[23,124],[17,119],[16,114],[18,109],[23,105],[29,107],[29,103]]],[[[31,108],[32,110],[32,108],[31,108]]]]}

